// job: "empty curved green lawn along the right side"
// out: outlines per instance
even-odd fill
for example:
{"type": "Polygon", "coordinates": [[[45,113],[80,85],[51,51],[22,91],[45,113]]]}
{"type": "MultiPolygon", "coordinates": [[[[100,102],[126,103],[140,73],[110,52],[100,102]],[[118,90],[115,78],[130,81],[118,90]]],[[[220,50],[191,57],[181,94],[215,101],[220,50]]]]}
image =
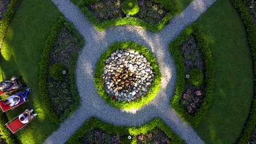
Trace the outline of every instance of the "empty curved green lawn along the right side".
{"type": "Polygon", "coordinates": [[[211,41],[215,89],[206,117],[196,129],[206,143],[235,143],[253,97],[252,56],[243,23],[230,1],[219,1],[197,20],[211,41]]]}

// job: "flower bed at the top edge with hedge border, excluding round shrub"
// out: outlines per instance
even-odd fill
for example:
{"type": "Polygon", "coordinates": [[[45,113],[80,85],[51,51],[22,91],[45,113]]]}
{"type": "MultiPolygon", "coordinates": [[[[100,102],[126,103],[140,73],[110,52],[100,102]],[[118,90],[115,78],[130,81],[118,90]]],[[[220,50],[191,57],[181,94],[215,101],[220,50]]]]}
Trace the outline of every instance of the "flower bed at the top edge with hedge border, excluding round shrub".
{"type": "Polygon", "coordinates": [[[124,1],[127,0],[72,0],[99,31],[129,24],[158,32],[178,13],[171,1],[141,0],[136,2],[139,6],[138,13],[126,17],[121,8],[124,1]]]}

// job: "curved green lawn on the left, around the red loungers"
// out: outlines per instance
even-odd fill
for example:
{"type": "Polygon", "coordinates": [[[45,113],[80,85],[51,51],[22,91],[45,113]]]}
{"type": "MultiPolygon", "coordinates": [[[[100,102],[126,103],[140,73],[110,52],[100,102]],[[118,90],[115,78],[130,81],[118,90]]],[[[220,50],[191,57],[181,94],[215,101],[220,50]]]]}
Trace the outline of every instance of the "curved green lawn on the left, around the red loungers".
{"type": "Polygon", "coordinates": [[[34,109],[38,113],[33,122],[15,134],[21,143],[43,143],[57,129],[57,125],[49,122],[47,111],[40,101],[38,77],[44,42],[51,26],[60,15],[50,0],[22,1],[3,42],[0,67],[4,79],[22,75],[27,87],[32,87],[32,92],[28,95],[30,101],[14,111],[7,112],[8,119],[19,115],[25,109],[34,109]]]}

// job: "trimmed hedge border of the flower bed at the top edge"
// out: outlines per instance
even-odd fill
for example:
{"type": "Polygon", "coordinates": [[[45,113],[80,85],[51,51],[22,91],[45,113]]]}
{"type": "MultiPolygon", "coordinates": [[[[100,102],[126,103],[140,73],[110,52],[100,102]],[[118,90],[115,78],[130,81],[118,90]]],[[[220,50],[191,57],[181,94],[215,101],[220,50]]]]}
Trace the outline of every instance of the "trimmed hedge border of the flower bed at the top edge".
{"type": "Polygon", "coordinates": [[[140,19],[137,19],[136,17],[120,17],[118,19],[111,19],[108,21],[100,22],[96,18],[94,14],[91,13],[91,11],[86,7],[87,5],[90,5],[94,3],[97,0],[71,0],[75,5],[77,5],[82,13],[88,18],[88,20],[94,25],[98,31],[103,31],[106,28],[112,27],[112,26],[121,26],[121,25],[136,25],[140,26],[144,29],[148,29],[152,32],[158,32],[172,19],[172,17],[176,14],[178,14],[178,9],[175,7],[175,5],[171,1],[165,1],[165,0],[154,0],[156,3],[160,3],[164,6],[165,9],[170,10],[170,13],[167,13],[165,17],[156,25],[150,24],[148,22],[142,21],[140,19]]]}

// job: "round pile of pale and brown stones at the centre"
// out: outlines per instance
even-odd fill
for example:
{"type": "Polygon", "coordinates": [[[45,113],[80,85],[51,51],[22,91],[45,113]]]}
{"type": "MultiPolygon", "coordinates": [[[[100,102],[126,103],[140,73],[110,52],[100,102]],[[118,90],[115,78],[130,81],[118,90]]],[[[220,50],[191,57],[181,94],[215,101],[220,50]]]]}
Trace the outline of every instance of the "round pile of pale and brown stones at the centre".
{"type": "Polygon", "coordinates": [[[131,101],[146,95],[154,74],[146,57],[134,50],[120,49],[106,59],[102,78],[113,99],[131,101]]]}

